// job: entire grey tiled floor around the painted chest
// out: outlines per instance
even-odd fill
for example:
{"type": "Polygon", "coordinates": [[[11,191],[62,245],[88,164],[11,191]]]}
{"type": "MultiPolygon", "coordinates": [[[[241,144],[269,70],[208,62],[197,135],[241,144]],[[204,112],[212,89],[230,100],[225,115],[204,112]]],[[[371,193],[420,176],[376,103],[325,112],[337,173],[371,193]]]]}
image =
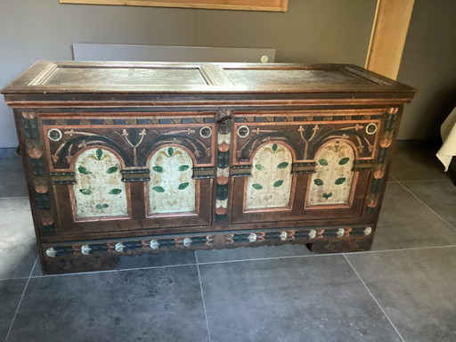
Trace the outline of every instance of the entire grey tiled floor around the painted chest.
{"type": "Polygon", "coordinates": [[[456,341],[456,186],[434,152],[396,151],[371,252],[198,251],[60,276],[36,262],[19,160],[0,159],[0,340],[456,341]]]}

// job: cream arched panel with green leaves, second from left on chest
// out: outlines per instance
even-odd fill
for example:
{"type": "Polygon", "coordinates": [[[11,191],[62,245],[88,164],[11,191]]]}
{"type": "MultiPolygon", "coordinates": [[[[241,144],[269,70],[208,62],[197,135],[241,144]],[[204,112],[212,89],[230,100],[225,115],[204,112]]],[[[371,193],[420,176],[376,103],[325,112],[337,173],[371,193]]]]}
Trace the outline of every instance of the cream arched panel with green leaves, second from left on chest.
{"type": "Polygon", "coordinates": [[[166,146],[151,157],[149,211],[151,214],[194,212],[193,160],[181,148],[166,146]]]}

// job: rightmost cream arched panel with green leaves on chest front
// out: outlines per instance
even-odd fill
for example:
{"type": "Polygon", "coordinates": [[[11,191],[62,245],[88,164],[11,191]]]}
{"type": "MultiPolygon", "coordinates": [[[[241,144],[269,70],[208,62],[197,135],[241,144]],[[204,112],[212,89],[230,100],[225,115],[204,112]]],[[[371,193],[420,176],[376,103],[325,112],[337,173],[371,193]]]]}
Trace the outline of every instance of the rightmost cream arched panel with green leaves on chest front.
{"type": "Polygon", "coordinates": [[[331,141],[315,156],[317,166],[311,177],[308,206],[348,205],[354,172],[354,150],[346,142],[331,141]]]}

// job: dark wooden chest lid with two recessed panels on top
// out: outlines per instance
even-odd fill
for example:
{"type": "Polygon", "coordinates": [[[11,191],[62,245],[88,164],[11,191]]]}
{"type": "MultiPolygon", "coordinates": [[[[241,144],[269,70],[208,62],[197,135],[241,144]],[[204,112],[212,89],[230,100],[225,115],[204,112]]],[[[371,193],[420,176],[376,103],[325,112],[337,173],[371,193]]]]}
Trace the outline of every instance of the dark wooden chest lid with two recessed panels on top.
{"type": "MultiPolygon", "coordinates": [[[[313,96],[393,97],[410,101],[414,89],[369,70],[346,64],[163,63],[37,61],[1,91],[10,102],[61,99],[63,94],[193,94],[200,100],[213,94],[257,94],[269,98],[313,96]],[[22,96],[12,96],[22,94],[22,96]],[[40,95],[37,97],[37,95],[40,95]],[[25,95],[25,97],[24,97],[25,95]]],[[[172,96],[171,96],[172,97],[172,96]]],[[[157,99],[156,96],[153,97],[157,99]]],[[[151,98],[152,99],[152,98],[151,98]]]]}

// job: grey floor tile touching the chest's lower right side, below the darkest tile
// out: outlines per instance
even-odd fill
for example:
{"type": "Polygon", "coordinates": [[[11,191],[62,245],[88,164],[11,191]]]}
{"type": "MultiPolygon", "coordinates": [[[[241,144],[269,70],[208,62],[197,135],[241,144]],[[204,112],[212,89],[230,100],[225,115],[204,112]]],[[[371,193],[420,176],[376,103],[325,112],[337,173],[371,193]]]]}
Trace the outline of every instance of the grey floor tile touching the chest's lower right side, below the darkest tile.
{"type": "Polygon", "coordinates": [[[456,231],[399,183],[388,183],[372,250],[449,246],[456,231]]]}

